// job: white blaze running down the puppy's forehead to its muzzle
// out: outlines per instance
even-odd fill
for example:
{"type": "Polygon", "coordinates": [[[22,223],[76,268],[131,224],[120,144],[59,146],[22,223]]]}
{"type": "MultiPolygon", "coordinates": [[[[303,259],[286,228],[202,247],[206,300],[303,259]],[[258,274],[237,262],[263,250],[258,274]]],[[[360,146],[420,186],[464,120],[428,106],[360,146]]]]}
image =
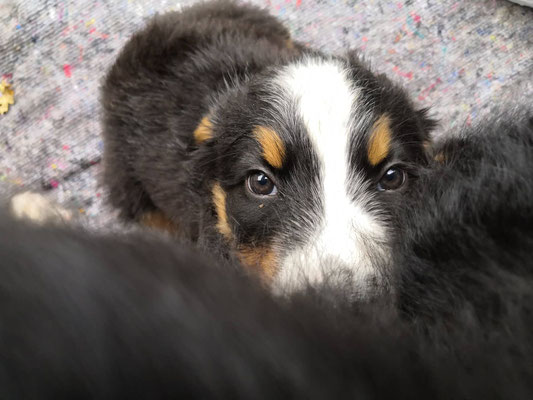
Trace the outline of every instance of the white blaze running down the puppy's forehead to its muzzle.
{"type": "Polygon", "coordinates": [[[308,59],[290,65],[276,83],[298,105],[318,156],[321,189],[313,195],[320,197],[323,209],[308,243],[282,261],[274,288],[286,292],[324,279],[346,280],[346,275],[335,275],[334,269],[342,267],[351,284],[364,290],[368,278],[377,274],[372,260],[385,253],[386,232],[377,216],[365,210],[372,194],[350,168],[349,145],[351,132],[357,134],[371,115],[365,114],[360,90],[338,61],[308,59]]]}

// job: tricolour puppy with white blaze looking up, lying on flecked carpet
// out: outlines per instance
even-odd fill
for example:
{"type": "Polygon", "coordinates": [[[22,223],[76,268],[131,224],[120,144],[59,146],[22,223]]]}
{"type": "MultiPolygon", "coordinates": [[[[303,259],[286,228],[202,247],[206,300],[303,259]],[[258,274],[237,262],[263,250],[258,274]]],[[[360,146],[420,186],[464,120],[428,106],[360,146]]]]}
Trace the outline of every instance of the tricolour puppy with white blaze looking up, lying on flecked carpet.
{"type": "MultiPolygon", "coordinates": [[[[122,216],[234,256],[274,290],[383,276],[434,125],[354,53],[292,41],[217,1],[155,17],[102,90],[105,184],[122,216]]],[[[372,289],[373,290],[373,289],[372,289]]]]}

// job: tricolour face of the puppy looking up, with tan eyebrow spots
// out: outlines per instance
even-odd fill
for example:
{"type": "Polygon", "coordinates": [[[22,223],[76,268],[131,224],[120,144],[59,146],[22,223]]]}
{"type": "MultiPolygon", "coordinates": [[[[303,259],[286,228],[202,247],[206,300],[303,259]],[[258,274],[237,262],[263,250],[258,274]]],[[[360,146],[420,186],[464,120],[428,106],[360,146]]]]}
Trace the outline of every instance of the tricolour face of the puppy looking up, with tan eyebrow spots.
{"type": "Polygon", "coordinates": [[[195,131],[216,229],[279,291],[341,278],[364,293],[382,282],[391,211],[425,162],[429,124],[356,61],[269,71],[195,131]]]}

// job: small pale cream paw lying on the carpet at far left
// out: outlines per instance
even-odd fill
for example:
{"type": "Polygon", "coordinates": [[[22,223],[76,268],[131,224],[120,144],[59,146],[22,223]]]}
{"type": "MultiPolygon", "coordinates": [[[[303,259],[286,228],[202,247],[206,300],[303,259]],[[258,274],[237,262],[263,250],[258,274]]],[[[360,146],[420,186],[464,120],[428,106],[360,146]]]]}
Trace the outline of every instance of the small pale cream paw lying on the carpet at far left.
{"type": "Polygon", "coordinates": [[[24,192],[13,196],[10,210],[14,217],[38,224],[63,223],[72,219],[72,213],[42,194],[24,192]]]}

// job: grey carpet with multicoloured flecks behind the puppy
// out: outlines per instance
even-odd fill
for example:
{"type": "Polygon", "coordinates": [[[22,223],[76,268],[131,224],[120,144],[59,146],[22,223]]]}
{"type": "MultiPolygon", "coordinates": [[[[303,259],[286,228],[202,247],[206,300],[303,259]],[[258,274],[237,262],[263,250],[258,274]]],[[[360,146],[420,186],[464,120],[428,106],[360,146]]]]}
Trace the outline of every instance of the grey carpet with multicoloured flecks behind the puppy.
{"type": "MultiPolygon", "coordinates": [[[[358,49],[431,106],[437,134],[531,104],[533,9],[506,0],[254,0],[296,40],[358,49]]],[[[99,186],[100,81],[124,42],[181,0],[0,0],[0,193],[45,190],[91,228],[116,226],[99,186]]]]}

